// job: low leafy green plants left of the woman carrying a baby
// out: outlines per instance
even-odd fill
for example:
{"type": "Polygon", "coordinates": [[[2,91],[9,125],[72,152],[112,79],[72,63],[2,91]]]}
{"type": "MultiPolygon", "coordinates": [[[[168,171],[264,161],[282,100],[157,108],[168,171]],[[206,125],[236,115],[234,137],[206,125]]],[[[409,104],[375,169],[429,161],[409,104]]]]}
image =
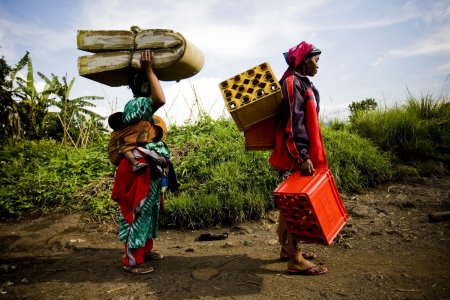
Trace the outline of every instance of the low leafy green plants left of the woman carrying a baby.
{"type": "Polygon", "coordinates": [[[2,216],[80,208],[77,191],[112,171],[97,148],[64,151],[54,140],[8,140],[0,157],[2,216]]]}

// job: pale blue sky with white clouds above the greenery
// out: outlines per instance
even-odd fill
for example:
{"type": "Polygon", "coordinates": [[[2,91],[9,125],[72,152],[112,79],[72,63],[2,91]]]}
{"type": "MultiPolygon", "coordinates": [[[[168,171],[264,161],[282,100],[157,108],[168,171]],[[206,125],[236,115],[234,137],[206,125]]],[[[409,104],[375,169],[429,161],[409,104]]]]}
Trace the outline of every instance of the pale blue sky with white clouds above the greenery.
{"type": "MultiPolygon", "coordinates": [[[[448,97],[450,0],[0,0],[0,56],[8,65],[30,52],[35,73],[75,78],[71,97],[101,96],[94,111],[107,117],[131,98],[79,76],[78,30],[171,29],[198,47],[205,64],[195,76],[161,82],[170,124],[195,119],[200,107],[229,117],[219,83],[268,62],[279,79],[283,58],[305,40],[322,50],[312,78],[322,120],[346,120],[352,102],[379,107],[448,97]]],[[[36,86],[43,88],[35,74],[36,86]]]]}

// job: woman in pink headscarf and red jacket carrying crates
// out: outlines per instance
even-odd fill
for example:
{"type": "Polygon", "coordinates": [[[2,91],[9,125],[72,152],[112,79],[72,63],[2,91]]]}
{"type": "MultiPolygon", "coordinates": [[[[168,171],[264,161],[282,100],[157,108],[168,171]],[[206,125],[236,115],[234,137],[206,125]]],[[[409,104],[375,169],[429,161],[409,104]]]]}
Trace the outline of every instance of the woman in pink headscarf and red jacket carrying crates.
{"type": "MultiPolygon", "coordinates": [[[[319,92],[309,79],[317,73],[320,53],[305,41],[284,53],[288,69],[280,80],[283,92],[280,122],[269,159],[284,178],[295,171],[312,175],[317,168],[327,167],[318,122],[319,92]]],[[[302,253],[300,241],[289,232],[281,213],[277,234],[280,259],[288,261],[289,273],[320,275],[328,271],[327,267],[310,261],[315,258],[314,253],[302,253]]]]}

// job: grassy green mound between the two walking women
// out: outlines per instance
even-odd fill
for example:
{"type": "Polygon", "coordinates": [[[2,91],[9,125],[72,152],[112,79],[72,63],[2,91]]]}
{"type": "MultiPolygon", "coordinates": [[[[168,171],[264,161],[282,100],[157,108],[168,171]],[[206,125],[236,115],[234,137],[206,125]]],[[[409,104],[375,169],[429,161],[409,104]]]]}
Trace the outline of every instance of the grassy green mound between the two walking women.
{"type": "Polygon", "coordinates": [[[168,144],[182,183],[166,198],[166,220],[177,226],[235,224],[261,217],[272,207],[277,174],[268,153],[245,152],[244,137],[230,120],[203,116],[173,126],[168,144]]]}

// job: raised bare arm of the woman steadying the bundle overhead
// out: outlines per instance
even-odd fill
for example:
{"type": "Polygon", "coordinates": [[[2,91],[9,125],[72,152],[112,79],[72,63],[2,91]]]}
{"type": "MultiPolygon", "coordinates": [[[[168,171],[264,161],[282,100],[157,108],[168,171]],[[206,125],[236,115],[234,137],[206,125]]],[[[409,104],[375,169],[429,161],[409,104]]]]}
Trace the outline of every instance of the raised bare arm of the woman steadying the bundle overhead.
{"type": "Polygon", "coordinates": [[[140,58],[141,69],[144,71],[147,79],[150,83],[150,95],[153,99],[152,106],[154,110],[157,110],[164,104],[166,104],[166,97],[159,83],[158,77],[156,77],[153,71],[153,52],[145,50],[141,54],[140,58]]]}

